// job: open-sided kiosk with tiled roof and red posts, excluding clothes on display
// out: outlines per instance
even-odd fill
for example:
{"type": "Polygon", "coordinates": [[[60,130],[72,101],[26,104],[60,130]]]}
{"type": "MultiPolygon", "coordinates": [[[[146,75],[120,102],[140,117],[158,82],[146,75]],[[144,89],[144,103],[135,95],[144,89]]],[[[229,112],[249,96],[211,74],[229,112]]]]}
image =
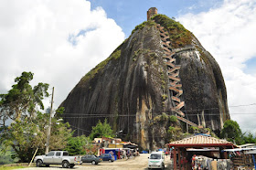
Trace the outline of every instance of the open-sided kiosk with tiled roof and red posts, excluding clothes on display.
{"type": "Polygon", "coordinates": [[[223,149],[237,147],[226,140],[220,140],[206,135],[195,135],[183,140],[167,143],[173,150],[174,169],[191,169],[191,160],[194,154],[205,155],[211,158],[227,159],[223,149]]]}

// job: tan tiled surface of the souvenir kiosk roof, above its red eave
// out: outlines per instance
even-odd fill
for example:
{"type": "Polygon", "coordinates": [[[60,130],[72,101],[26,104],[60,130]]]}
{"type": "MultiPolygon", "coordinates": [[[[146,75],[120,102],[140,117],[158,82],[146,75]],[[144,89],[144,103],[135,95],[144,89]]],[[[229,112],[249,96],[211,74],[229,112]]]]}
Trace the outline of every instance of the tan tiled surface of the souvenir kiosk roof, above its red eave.
{"type": "Polygon", "coordinates": [[[185,139],[175,141],[175,142],[172,142],[169,144],[177,145],[177,144],[233,144],[233,143],[230,143],[226,140],[221,140],[221,139],[217,139],[214,137],[210,137],[210,136],[196,135],[196,136],[185,138],[185,139]]]}

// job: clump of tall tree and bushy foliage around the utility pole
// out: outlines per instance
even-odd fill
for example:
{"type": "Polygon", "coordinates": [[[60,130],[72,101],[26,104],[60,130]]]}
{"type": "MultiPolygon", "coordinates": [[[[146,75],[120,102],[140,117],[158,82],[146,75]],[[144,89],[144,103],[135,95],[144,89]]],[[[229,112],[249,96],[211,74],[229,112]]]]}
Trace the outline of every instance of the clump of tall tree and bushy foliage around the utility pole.
{"type": "MultiPolygon", "coordinates": [[[[33,73],[23,72],[15,79],[16,84],[6,94],[0,95],[0,119],[2,125],[0,133],[1,151],[11,147],[13,157],[20,162],[28,162],[38,148],[38,154],[44,154],[47,141],[49,113],[41,113],[44,109],[43,99],[48,97],[48,84],[39,82],[35,87],[29,84],[33,80],[33,73]],[[13,122],[5,125],[6,119],[13,122]]],[[[63,108],[58,110],[59,115],[63,108]]],[[[66,147],[72,136],[69,123],[53,117],[51,122],[50,150],[66,147]]]]}

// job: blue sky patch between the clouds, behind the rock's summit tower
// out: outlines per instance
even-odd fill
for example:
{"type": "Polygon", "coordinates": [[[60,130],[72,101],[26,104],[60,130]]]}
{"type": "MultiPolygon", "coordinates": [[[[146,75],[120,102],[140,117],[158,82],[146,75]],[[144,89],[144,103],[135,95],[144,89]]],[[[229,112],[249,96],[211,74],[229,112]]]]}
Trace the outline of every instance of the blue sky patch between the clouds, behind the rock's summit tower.
{"type": "Polygon", "coordinates": [[[199,13],[217,7],[220,0],[90,0],[91,9],[101,6],[107,16],[123,28],[129,37],[133,28],[146,20],[146,11],[156,7],[160,14],[177,17],[186,13],[199,13]],[[111,2],[111,3],[110,3],[111,2]]]}

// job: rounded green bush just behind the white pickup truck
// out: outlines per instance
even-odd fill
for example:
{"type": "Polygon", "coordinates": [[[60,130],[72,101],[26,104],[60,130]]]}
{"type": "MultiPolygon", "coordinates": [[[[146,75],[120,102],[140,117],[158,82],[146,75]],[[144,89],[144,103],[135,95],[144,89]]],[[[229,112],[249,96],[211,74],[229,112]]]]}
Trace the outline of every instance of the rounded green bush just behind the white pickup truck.
{"type": "Polygon", "coordinates": [[[91,148],[92,144],[90,137],[81,135],[77,137],[70,137],[65,150],[69,151],[70,155],[76,155],[87,154],[87,150],[90,150],[91,148]]]}

